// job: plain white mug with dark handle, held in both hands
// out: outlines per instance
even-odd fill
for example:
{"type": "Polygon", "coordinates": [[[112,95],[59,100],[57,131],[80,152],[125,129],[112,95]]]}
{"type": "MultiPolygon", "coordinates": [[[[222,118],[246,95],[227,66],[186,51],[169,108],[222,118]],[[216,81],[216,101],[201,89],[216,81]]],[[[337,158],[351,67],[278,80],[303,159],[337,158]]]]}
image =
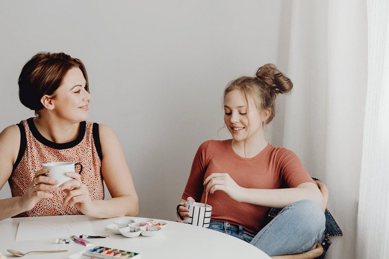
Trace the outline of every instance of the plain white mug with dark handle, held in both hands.
{"type": "Polygon", "coordinates": [[[50,169],[50,173],[47,174],[47,177],[53,178],[58,181],[58,184],[55,186],[60,186],[64,182],[72,180],[73,178],[67,176],[65,173],[75,172],[75,167],[79,165],[80,174],[82,172],[83,166],[80,163],[73,162],[54,162],[54,163],[46,163],[42,165],[43,169],[50,169]]]}

